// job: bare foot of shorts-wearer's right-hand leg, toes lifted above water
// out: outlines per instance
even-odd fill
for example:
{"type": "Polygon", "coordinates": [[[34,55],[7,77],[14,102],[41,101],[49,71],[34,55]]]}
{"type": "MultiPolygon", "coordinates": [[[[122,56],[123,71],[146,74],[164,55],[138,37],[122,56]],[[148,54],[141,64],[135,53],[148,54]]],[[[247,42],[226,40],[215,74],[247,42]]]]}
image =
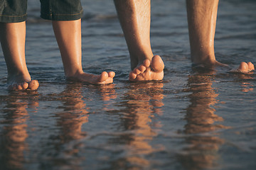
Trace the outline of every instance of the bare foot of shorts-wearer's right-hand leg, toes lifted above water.
{"type": "Polygon", "coordinates": [[[100,75],[88,74],[85,72],[69,76],[68,79],[81,81],[89,84],[111,84],[113,82],[114,72],[102,72],[100,75]]]}

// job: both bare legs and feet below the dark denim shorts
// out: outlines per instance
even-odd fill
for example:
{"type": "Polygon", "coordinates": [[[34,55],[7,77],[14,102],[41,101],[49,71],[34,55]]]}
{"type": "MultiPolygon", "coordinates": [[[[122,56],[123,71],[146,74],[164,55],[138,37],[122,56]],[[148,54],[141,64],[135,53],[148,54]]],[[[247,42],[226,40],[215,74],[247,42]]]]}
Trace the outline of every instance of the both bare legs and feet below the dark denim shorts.
{"type": "MultiPolygon", "coordinates": [[[[37,80],[31,80],[26,66],[25,39],[26,22],[0,23],[0,41],[8,70],[9,91],[34,91],[38,89],[37,80]]],[[[82,71],[81,20],[53,21],[53,30],[63,60],[65,76],[68,79],[89,84],[110,84],[114,72],[100,75],[82,71]]]]}

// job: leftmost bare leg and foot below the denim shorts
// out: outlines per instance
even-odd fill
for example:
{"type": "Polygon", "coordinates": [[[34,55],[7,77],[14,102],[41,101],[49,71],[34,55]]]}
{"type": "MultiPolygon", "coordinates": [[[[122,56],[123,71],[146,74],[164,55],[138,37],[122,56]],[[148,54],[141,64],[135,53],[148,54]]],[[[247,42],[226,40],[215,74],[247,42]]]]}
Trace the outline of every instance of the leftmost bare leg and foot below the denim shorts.
{"type": "Polygon", "coordinates": [[[0,41],[8,70],[9,90],[36,90],[38,81],[32,80],[25,60],[26,23],[0,23],[0,41]]]}

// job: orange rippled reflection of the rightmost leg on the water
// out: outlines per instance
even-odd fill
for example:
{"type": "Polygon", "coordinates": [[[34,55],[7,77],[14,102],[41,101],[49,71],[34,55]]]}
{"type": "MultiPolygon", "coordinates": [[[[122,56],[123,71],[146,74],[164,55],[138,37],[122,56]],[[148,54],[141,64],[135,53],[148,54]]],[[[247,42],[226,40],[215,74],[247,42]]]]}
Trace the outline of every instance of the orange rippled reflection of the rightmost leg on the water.
{"type": "Polygon", "coordinates": [[[220,155],[218,149],[224,140],[212,131],[228,128],[215,114],[213,106],[218,103],[218,96],[212,85],[213,73],[192,74],[188,78],[188,97],[191,104],[186,109],[187,124],[184,127],[188,147],[178,156],[186,169],[210,169],[217,166],[220,155]],[[210,132],[210,133],[208,133],[210,132]]]}

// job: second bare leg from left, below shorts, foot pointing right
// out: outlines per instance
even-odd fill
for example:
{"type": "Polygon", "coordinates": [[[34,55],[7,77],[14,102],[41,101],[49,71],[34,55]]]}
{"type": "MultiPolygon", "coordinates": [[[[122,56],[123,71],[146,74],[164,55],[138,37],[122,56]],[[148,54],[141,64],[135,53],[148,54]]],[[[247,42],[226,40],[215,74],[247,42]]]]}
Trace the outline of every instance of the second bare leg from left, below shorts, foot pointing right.
{"type": "Polygon", "coordinates": [[[60,48],[65,76],[68,79],[90,84],[113,82],[114,72],[102,72],[100,75],[95,75],[82,71],[81,19],[53,21],[53,30],[60,48]]]}

